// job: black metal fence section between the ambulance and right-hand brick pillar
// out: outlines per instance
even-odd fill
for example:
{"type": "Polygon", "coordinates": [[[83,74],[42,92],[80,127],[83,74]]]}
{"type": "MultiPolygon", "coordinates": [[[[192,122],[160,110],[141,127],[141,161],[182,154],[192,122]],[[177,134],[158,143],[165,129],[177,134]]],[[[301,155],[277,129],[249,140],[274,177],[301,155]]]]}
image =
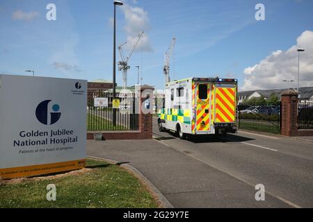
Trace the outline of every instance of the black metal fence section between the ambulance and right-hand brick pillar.
{"type": "Polygon", "coordinates": [[[264,133],[280,133],[281,103],[240,103],[238,105],[239,129],[264,133]]]}

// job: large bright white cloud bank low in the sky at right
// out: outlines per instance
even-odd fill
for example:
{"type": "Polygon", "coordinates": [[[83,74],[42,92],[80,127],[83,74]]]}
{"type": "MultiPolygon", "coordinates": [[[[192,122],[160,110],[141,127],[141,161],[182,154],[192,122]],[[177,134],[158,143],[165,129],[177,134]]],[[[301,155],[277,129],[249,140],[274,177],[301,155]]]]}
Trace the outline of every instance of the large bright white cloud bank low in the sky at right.
{"type": "Polygon", "coordinates": [[[298,48],[305,49],[300,56],[300,87],[313,86],[313,31],[305,31],[287,51],[274,51],[259,64],[244,69],[242,90],[288,87],[282,80],[295,80],[291,87],[297,87],[298,48]]]}

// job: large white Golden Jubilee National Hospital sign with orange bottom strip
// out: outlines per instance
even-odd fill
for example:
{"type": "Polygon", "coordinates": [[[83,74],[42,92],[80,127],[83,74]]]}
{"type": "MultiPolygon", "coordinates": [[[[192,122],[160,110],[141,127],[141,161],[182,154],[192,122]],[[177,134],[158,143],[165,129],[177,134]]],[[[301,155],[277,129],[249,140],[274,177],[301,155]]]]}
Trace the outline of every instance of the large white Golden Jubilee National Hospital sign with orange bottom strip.
{"type": "Polygon", "coordinates": [[[0,178],[86,166],[87,81],[0,75],[0,178]]]}

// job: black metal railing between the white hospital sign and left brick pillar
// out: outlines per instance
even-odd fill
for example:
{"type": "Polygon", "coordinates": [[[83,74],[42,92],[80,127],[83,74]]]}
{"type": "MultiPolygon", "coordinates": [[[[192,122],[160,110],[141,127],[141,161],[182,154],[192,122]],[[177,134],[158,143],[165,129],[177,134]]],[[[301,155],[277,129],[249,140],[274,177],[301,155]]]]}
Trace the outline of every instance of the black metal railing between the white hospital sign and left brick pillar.
{"type": "Polygon", "coordinates": [[[123,96],[115,94],[115,99],[120,101],[118,109],[113,109],[112,93],[102,91],[88,92],[88,131],[139,129],[139,116],[138,113],[136,114],[135,94],[125,94],[123,96]]]}

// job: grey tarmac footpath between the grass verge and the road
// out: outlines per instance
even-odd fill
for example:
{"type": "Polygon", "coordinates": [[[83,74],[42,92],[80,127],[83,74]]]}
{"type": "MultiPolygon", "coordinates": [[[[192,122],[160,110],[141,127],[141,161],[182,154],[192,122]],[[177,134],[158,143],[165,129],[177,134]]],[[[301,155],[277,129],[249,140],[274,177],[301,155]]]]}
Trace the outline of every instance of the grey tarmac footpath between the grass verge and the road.
{"type": "Polygon", "coordinates": [[[271,195],[257,201],[255,185],[155,139],[88,141],[87,154],[127,162],[174,207],[291,207],[271,195]]]}

